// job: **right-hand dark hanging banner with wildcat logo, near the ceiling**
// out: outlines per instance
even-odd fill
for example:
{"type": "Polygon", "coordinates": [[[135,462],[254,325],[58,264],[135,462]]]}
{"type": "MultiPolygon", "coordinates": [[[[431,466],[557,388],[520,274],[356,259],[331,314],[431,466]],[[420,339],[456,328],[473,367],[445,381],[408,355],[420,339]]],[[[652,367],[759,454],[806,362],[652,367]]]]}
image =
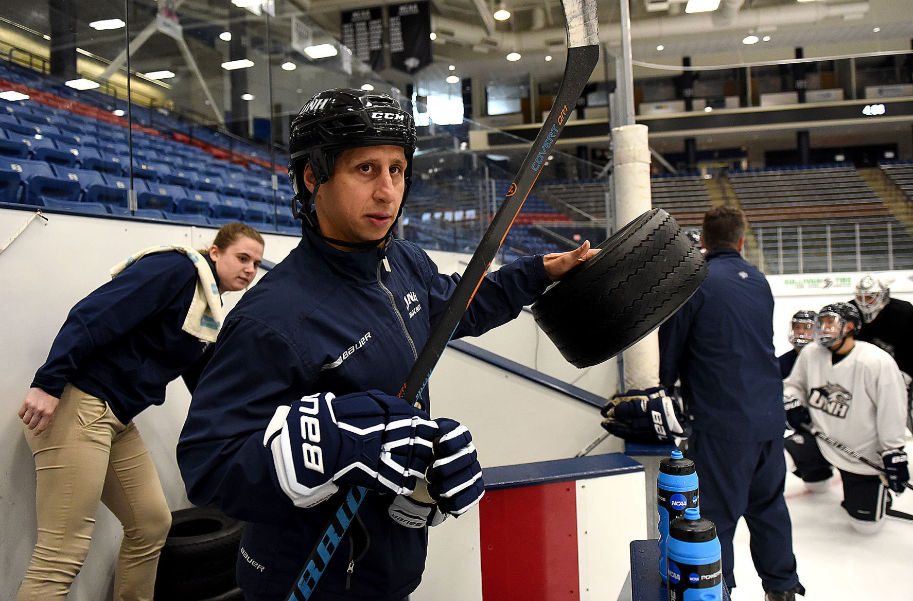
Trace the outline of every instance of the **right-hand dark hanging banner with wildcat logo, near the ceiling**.
{"type": "Polygon", "coordinates": [[[391,5],[387,18],[390,66],[412,75],[432,63],[431,5],[407,2],[391,5]]]}

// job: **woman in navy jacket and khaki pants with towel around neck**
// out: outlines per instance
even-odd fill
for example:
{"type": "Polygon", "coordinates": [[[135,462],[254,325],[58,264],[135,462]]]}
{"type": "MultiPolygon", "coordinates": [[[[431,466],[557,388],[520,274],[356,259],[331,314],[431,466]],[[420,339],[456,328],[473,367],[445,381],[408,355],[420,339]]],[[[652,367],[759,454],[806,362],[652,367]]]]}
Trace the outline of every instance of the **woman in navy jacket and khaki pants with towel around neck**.
{"type": "Polygon", "coordinates": [[[203,252],[147,248],[113,269],[69,312],[35,374],[19,417],[35,457],[38,540],[17,601],[67,596],[99,501],[124,530],[114,598],[152,600],[171,512],[132,419],[161,405],[179,375],[194,389],[221,326],[219,295],[254,279],[263,238],[229,224],[203,252]]]}

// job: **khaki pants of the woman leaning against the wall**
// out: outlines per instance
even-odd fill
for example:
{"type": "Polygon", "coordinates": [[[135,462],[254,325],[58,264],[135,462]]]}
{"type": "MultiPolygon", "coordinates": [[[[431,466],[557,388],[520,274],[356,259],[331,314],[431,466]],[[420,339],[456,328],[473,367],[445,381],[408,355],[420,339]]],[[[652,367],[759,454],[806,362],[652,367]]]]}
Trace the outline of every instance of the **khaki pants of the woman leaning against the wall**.
{"type": "Polygon", "coordinates": [[[114,601],[152,601],[171,512],[136,426],[67,385],[51,425],[38,436],[26,428],[26,439],[37,472],[38,540],[16,601],[67,597],[89,553],[99,501],[123,525],[114,601]]]}

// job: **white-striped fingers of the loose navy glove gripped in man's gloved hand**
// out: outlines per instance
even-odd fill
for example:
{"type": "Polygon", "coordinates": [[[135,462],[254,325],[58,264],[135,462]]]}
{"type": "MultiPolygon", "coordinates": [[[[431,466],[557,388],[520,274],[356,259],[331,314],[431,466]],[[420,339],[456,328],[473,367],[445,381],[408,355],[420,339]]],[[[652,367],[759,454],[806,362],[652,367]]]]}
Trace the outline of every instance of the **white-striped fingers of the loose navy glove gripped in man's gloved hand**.
{"type": "Polygon", "coordinates": [[[467,427],[438,417],[435,459],[428,470],[428,493],[441,511],[462,515],[485,494],[482,467],[467,427]]]}

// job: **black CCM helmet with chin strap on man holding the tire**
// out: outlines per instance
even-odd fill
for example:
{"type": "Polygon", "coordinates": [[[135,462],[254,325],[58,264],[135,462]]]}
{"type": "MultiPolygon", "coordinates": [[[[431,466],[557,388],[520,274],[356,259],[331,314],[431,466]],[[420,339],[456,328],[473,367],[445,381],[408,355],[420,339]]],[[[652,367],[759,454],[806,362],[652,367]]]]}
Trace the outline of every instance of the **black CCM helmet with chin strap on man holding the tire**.
{"type": "MultiPolygon", "coordinates": [[[[401,146],[405,153],[404,192],[399,215],[412,185],[412,158],[418,138],[415,120],[399,102],[380,92],[336,88],[324,90],[308,100],[291,122],[289,134],[289,180],[295,189],[293,210],[304,227],[318,234],[317,215],[311,208],[317,189],[333,174],[336,158],[346,150],[365,146],[401,146]],[[310,163],[316,185],[313,191],[304,184],[305,167],[310,163]]],[[[376,246],[390,236],[396,220],[386,236],[364,243],[330,239],[349,248],[376,246]]]]}

